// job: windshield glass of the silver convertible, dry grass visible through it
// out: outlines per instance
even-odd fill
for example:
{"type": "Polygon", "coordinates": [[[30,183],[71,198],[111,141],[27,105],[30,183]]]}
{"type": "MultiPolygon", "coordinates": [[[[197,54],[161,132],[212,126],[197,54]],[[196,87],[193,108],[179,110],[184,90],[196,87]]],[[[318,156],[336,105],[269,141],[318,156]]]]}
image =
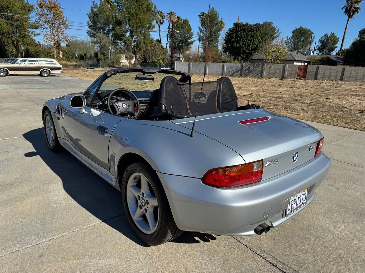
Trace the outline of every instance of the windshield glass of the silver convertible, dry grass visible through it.
{"type": "MultiPolygon", "coordinates": [[[[136,80],[136,75],[141,75],[142,72],[130,72],[130,73],[119,73],[112,75],[110,78],[104,80],[101,84],[99,93],[105,91],[112,91],[116,88],[126,88],[131,91],[145,91],[145,90],[155,90],[160,88],[161,80],[167,76],[164,73],[147,74],[152,75],[154,80],[136,80]]],[[[177,80],[181,78],[181,75],[172,75],[177,80]]]]}

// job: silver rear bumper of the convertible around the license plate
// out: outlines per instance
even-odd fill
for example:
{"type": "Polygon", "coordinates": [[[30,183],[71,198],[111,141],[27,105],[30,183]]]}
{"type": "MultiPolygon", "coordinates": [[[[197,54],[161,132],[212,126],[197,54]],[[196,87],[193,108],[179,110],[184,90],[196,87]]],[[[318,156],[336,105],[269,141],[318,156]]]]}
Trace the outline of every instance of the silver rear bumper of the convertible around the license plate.
{"type": "Polygon", "coordinates": [[[321,153],[284,174],[230,189],[207,186],[197,178],[157,174],[181,230],[247,236],[263,222],[275,227],[307,207],[329,168],[330,160],[321,153]],[[306,188],[306,205],[285,217],[290,198],[306,188]]]}

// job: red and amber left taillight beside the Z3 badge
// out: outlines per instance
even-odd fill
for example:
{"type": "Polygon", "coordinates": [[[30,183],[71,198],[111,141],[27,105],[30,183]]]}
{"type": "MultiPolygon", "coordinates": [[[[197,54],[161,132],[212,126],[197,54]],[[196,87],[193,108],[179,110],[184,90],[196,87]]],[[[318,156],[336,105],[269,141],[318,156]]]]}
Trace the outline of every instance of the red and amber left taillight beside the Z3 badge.
{"type": "Polygon", "coordinates": [[[234,187],[261,181],[263,161],[237,166],[216,168],[207,171],[201,179],[214,187],[234,187]]]}

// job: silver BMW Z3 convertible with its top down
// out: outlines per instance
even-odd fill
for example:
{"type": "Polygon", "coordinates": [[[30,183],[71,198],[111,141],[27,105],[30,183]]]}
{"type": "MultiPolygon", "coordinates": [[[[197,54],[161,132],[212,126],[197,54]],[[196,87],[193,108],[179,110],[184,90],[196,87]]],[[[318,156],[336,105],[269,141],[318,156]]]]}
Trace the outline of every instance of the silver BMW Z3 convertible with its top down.
{"type": "Polygon", "coordinates": [[[224,76],[202,83],[116,68],[83,93],[48,100],[42,116],[49,148],[64,147],[121,191],[127,221],[150,245],[184,230],[269,232],[313,201],[330,167],[319,130],[238,106],[224,76]]]}

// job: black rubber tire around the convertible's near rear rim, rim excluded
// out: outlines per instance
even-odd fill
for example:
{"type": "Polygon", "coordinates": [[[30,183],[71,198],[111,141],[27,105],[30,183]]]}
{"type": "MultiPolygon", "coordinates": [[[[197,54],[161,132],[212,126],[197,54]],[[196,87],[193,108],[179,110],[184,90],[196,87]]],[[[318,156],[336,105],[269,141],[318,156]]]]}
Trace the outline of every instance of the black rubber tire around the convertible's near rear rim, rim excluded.
{"type": "Polygon", "coordinates": [[[180,236],[183,231],[180,230],[174,221],[174,218],[172,216],[172,212],[169,206],[169,202],[167,200],[165,191],[161,185],[160,179],[158,178],[157,174],[151,170],[149,167],[147,167],[143,163],[134,163],[127,167],[126,171],[124,172],[123,178],[122,178],[122,199],[123,199],[123,207],[124,212],[127,217],[127,221],[129,225],[131,226],[134,233],[144,242],[146,242],[149,245],[161,245],[168,241],[173,240],[174,238],[177,238],[180,236]],[[150,184],[152,185],[157,202],[158,202],[158,221],[157,221],[157,228],[156,230],[151,234],[146,234],[141,232],[141,230],[137,227],[137,225],[134,223],[132,216],[130,214],[127,198],[126,198],[126,190],[127,190],[127,183],[128,179],[131,177],[134,173],[142,173],[145,175],[145,177],[149,180],[150,184]]]}

